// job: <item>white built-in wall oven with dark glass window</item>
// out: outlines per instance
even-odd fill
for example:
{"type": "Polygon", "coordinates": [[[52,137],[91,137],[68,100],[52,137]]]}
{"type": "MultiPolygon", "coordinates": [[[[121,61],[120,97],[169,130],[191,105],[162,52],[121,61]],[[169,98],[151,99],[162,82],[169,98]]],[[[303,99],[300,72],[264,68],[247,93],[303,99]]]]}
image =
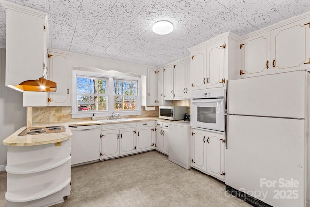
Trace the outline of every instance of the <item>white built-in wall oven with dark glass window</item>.
{"type": "Polygon", "coordinates": [[[190,105],[191,127],[224,132],[224,108],[224,88],[193,91],[190,105]]]}

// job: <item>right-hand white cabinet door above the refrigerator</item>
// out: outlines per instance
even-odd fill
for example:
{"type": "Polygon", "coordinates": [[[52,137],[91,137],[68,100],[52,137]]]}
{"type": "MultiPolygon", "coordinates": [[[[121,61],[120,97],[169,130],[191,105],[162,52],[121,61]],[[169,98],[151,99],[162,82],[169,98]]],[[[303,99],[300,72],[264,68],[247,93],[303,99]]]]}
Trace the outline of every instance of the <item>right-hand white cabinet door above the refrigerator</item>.
{"type": "Polygon", "coordinates": [[[271,31],[271,73],[310,68],[310,28],[307,23],[309,18],[271,31]]]}

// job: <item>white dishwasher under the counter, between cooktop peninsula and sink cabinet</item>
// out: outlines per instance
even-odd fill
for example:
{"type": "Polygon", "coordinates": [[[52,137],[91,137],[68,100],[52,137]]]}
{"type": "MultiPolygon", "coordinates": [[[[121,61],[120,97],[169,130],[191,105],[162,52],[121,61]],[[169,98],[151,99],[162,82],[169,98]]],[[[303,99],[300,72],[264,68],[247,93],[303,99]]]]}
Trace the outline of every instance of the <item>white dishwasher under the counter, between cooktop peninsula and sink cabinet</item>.
{"type": "Polygon", "coordinates": [[[70,127],[71,165],[99,161],[100,125],[70,127]]]}

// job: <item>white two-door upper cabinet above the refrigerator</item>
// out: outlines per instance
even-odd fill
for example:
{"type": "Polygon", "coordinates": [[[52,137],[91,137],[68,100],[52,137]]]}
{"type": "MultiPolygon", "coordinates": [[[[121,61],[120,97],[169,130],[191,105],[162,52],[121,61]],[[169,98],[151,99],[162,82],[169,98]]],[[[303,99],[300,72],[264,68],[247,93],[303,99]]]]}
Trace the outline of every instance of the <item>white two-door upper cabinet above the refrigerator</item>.
{"type": "Polygon", "coordinates": [[[244,35],[240,77],[310,69],[309,22],[306,14],[244,35]]]}

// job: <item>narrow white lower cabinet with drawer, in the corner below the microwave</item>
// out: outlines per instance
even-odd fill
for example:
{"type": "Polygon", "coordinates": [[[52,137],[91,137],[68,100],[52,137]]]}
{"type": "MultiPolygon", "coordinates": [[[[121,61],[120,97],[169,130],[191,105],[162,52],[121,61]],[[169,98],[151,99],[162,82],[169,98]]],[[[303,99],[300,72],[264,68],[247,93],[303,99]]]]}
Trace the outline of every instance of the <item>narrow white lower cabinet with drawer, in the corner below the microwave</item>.
{"type": "Polygon", "coordinates": [[[156,121],[156,143],[155,149],[168,155],[169,153],[169,124],[156,121]]]}

